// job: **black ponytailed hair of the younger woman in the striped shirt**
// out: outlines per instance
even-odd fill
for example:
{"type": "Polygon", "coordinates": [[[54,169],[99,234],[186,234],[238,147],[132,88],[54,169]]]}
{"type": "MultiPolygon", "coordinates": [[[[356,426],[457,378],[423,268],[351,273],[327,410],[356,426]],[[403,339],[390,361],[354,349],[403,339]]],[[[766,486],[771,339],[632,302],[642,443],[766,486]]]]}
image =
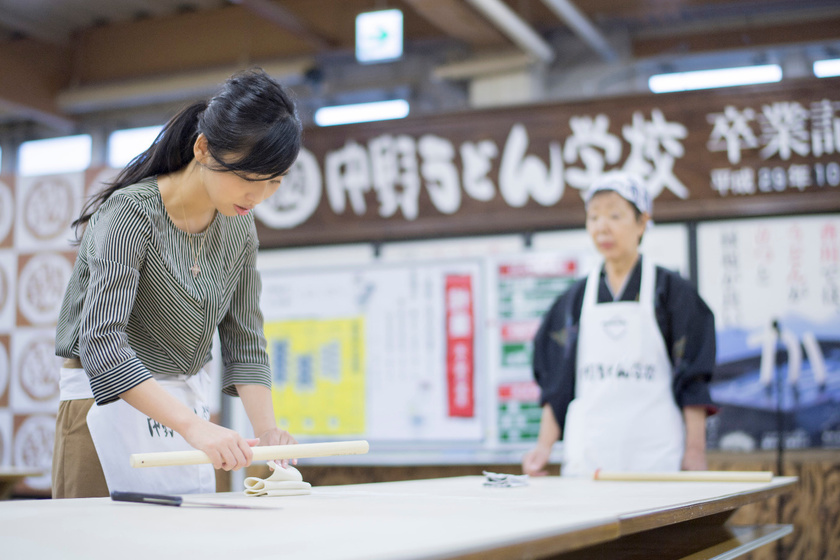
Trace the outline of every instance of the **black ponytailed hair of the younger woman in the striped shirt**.
{"type": "Polygon", "coordinates": [[[184,108],[163,127],[149,148],[92,197],[73,222],[78,230],[116,191],[147,177],[173,173],[194,158],[199,134],[207,138],[216,171],[246,180],[273,179],[297,159],[302,128],[291,94],[262,69],[234,74],[209,101],[184,108]]]}

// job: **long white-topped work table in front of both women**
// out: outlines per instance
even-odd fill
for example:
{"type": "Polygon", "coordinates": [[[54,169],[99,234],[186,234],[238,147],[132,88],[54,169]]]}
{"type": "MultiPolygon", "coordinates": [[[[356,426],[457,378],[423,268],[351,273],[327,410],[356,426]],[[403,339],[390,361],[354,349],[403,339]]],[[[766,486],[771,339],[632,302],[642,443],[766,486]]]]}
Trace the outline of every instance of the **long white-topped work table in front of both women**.
{"type": "Polygon", "coordinates": [[[687,555],[686,540],[697,541],[696,550],[725,547],[726,541],[731,541],[730,549],[746,550],[743,547],[790,532],[789,526],[741,530],[723,523],[744,504],[792,490],[795,481],[599,482],[543,477],[532,478],[525,487],[490,488],[483,485],[483,477],[466,476],[316,487],[307,496],[280,498],[248,498],[238,492],[189,496],[195,501],[279,508],[271,510],[168,507],[108,498],[20,500],[0,503],[0,556],[579,558],[592,552],[584,547],[597,546],[613,550],[605,556],[610,558],[636,558],[628,555],[633,547],[640,549],[638,558],[645,557],[645,550],[651,557],[651,549],[658,559],[676,558],[681,556],[674,554],[687,555]]]}

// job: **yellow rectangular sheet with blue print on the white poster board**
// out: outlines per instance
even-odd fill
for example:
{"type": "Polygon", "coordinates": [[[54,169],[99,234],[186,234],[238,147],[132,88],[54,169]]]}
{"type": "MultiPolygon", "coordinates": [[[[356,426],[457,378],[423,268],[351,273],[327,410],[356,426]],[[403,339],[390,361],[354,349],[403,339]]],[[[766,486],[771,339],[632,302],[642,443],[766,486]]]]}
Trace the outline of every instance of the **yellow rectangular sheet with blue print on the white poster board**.
{"type": "Polygon", "coordinates": [[[364,318],[265,324],[278,425],[292,435],[365,432],[364,318]]]}

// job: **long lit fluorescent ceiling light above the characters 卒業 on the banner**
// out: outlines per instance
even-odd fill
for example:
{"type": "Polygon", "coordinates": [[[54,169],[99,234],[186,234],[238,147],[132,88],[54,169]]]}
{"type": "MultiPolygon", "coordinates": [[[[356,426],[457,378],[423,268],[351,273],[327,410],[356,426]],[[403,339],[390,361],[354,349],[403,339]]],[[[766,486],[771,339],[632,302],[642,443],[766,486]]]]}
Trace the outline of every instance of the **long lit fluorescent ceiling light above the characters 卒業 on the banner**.
{"type": "Polygon", "coordinates": [[[650,87],[650,91],[653,93],[668,93],[671,91],[769,84],[779,82],[781,79],[781,66],[778,64],[764,64],[761,66],[742,66],[739,68],[700,70],[697,72],[656,74],[648,80],[648,87],[650,87]]]}

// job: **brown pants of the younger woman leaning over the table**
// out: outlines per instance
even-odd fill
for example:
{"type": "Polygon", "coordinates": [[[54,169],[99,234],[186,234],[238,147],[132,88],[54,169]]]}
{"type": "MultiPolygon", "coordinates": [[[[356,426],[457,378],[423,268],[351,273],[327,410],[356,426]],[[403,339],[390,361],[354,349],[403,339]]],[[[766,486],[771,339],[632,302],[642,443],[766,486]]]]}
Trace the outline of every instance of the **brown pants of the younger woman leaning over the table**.
{"type": "Polygon", "coordinates": [[[108,485],[87,427],[93,399],[61,401],[55,422],[53,498],[107,497],[108,485]]]}

